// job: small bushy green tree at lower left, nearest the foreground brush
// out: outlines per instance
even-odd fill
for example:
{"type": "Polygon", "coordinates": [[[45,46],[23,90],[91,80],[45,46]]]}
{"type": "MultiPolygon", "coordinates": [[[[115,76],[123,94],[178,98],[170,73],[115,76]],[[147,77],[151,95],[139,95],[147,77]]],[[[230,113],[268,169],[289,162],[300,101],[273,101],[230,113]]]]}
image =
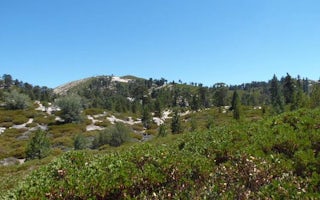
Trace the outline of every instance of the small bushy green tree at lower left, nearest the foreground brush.
{"type": "Polygon", "coordinates": [[[37,130],[28,143],[26,149],[26,160],[41,159],[50,153],[50,143],[47,133],[37,130]]]}

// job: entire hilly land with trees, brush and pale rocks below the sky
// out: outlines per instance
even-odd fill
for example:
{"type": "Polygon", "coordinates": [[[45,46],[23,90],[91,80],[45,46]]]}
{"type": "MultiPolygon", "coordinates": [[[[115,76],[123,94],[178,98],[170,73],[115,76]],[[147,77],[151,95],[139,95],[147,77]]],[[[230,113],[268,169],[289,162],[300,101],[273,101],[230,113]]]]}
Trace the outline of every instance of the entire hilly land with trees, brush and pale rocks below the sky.
{"type": "Polygon", "coordinates": [[[317,82],[289,74],[211,87],[97,76],[54,90],[5,75],[0,193],[10,190],[16,199],[318,197],[319,91],[317,82]]]}

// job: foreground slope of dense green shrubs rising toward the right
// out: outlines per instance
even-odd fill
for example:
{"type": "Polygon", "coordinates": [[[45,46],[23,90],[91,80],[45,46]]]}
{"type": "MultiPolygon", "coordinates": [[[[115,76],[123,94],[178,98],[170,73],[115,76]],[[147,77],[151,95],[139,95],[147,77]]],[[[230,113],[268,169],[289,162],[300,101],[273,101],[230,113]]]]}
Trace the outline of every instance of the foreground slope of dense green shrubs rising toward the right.
{"type": "Polygon", "coordinates": [[[65,153],[10,199],[319,199],[320,110],[65,153]]]}

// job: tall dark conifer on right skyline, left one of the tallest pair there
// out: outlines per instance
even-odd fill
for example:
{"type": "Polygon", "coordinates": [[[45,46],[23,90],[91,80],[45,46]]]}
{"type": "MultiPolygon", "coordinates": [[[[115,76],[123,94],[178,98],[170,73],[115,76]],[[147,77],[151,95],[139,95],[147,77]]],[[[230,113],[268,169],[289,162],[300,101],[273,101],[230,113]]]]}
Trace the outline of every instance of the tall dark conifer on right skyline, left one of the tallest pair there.
{"type": "Polygon", "coordinates": [[[279,81],[276,75],[274,75],[271,80],[270,93],[271,93],[271,104],[274,112],[275,113],[283,112],[284,102],[283,102],[283,97],[279,87],[279,81]]]}

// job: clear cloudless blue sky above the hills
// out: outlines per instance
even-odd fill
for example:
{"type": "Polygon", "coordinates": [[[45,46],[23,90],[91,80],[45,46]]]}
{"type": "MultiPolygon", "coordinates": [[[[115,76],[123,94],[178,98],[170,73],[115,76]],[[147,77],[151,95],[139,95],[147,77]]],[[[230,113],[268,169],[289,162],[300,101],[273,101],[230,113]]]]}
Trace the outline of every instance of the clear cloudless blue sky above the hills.
{"type": "Polygon", "coordinates": [[[0,74],[241,84],[320,77],[319,0],[0,0],[0,74]]]}

